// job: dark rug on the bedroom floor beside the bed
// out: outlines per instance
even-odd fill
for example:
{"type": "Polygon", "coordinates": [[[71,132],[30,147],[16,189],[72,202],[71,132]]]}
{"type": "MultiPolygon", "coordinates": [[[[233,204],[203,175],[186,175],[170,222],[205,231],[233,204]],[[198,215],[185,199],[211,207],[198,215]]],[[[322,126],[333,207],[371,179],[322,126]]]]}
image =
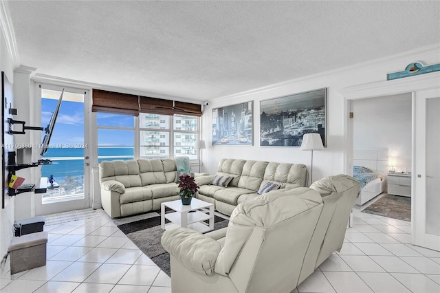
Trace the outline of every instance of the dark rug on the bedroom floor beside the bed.
{"type": "Polygon", "coordinates": [[[380,215],[403,221],[411,221],[411,197],[384,195],[362,213],[380,215]]]}

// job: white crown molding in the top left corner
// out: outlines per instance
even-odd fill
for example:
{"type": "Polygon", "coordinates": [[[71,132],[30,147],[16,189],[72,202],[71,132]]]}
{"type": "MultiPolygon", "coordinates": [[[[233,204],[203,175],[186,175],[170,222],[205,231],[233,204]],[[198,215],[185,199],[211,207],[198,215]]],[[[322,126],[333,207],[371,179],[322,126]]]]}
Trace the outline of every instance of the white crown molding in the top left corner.
{"type": "Polygon", "coordinates": [[[0,1],[0,23],[1,32],[5,38],[5,45],[8,49],[8,53],[12,59],[14,67],[19,67],[20,58],[17,50],[17,41],[15,40],[14,28],[12,26],[12,20],[9,14],[8,3],[6,1],[0,1]]]}

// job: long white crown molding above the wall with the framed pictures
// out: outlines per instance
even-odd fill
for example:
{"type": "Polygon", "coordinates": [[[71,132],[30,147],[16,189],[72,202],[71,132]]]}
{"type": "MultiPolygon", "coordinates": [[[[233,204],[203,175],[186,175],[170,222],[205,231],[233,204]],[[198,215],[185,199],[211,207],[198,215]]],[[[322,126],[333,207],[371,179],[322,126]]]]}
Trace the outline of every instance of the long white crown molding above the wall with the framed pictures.
{"type": "Polygon", "coordinates": [[[344,72],[344,71],[349,71],[349,70],[359,70],[362,69],[366,66],[371,66],[371,65],[375,65],[375,64],[381,64],[384,63],[386,61],[393,61],[394,59],[399,59],[402,58],[404,56],[408,56],[410,54],[424,54],[424,53],[428,53],[428,52],[434,52],[435,50],[437,50],[437,52],[439,52],[440,50],[440,44],[434,44],[434,45],[429,45],[426,47],[421,47],[421,48],[417,48],[415,50],[410,50],[410,51],[406,51],[406,52],[402,52],[399,54],[394,54],[391,56],[386,56],[383,58],[378,58],[372,61],[366,61],[366,62],[362,62],[362,63],[356,63],[354,65],[349,65],[346,67],[340,67],[337,69],[332,69],[329,70],[327,72],[319,72],[318,74],[311,74],[309,76],[303,76],[300,78],[294,78],[291,80],[285,80],[281,83],[274,83],[272,85],[267,85],[264,87],[257,87],[256,89],[250,89],[248,91],[241,91],[239,93],[236,94],[232,94],[232,95],[228,95],[228,96],[221,96],[221,97],[217,97],[217,98],[212,98],[210,99],[212,102],[216,102],[216,101],[223,101],[223,100],[232,100],[232,99],[236,99],[236,98],[243,98],[245,96],[252,96],[255,94],[261,94],[265,91],[274,91],[276,89],[282,89],[283,87],[287,87],[296,83],[305,83],[308,80],[314,80],[316,78],[322,78],[325,76],[329,76],[331,74],[336,74],[338,72],[344,72]]]}

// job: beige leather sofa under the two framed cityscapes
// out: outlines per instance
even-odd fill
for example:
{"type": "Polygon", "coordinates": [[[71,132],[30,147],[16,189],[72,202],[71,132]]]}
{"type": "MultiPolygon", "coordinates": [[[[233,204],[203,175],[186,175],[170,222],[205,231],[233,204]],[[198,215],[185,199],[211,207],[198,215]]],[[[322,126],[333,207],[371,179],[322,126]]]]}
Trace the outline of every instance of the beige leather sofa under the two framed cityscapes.
{"type": "Polygon", "coordinates": [[[277,184],[280,189],[307,184],[307,169],[303,164],[222,159],[216,175],[232,177],[232,180],[224,187],[211,184],[215,175],[196,177],[200,186],[197,198],[215,204],[215,209],[225,215],[231,215],[237,204],[255,198],[267,182],[277,184]]]}

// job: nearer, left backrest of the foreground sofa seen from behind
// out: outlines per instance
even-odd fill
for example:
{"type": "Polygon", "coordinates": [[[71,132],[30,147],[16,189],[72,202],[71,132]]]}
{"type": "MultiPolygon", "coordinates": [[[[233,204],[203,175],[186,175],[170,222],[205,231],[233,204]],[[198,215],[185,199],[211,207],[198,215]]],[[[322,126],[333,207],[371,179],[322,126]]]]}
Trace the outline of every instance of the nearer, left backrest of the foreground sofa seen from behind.
{"type": "Polygon", "coordinates": [[[290,292],[321,210],[320,194],[302,187],[242,202],[230,217],[215,272],[228,275],[239,292],[270,292],[273,283],[290,292]]]}

